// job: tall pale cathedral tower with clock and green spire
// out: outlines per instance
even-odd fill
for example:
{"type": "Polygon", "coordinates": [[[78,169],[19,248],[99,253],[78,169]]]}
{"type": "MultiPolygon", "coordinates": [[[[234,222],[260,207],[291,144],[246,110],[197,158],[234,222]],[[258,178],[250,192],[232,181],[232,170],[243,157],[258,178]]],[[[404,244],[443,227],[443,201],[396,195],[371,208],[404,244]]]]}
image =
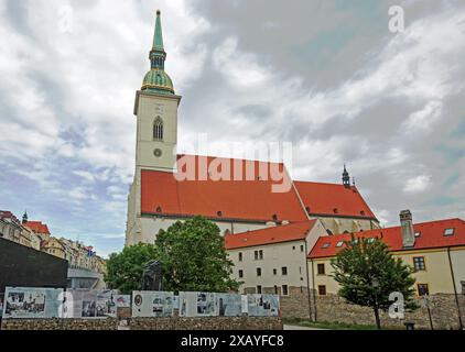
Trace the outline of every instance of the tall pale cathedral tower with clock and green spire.
{"type": "Polygon", "coordinates": [[[166,52],[163,45],[161,13],[156,11],[153,45],[149,54],[150,70],[136,95],[137,117],[136,174],[128,197],[128,243],[142,242],[141,175],[142,170],[176,170],[177,108],[181,97],[165,73],[166,52]]]}

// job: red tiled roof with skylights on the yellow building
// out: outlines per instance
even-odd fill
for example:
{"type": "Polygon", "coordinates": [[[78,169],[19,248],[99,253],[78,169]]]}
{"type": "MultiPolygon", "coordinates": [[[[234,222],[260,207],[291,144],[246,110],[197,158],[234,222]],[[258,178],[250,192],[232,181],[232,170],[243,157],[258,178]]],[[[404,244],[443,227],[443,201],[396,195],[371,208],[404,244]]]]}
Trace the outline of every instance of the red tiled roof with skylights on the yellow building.
{"type": "MultiPolygon", "coordinates": [[[[356,238],[378,238],[381,239],[391,251],[426,250],[447,246],[465,245],[465,221],[462,219],[448,219],[418,223],[413,226],[415,233],[420,237],[415,239],[413,248],[405,249],[402,244],[401,227],[377,229],[354,233],[356,238]],[[454,229],[453,235],[444,235],[446,229],[454,229]]],[[[349,241],[350,234],[338,234],[320,238],[315,246],[310,252],[309,257],[328,257],[335,256],[344,246],[337,248],[340,241],[349,241]],[[324,248],[326,244],[327,248],[324,248]]]]}

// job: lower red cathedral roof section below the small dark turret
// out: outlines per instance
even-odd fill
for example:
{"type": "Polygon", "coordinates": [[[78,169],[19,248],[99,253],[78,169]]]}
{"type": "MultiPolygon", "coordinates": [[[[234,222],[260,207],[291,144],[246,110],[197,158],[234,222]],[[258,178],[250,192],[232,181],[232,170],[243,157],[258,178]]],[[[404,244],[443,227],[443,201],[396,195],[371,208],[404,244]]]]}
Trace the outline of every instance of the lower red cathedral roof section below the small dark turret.
{"type": "Polygon", "coordinates": [[[314,216],[376,219],[355,186],[294,182],[305,208],[314,216]]]}

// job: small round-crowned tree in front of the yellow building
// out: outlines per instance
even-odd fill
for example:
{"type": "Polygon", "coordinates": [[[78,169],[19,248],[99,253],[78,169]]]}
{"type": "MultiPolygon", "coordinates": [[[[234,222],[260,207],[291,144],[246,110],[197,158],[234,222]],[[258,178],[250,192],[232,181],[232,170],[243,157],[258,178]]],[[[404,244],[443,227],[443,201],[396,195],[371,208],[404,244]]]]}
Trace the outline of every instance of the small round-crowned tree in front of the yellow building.
{"type": "Polygon", "coordinates": [[[378,329],[380,310],[388,310],[393,301],[391,293],[401,293],[405,309],[418,308],[412,301],[414,289],[412,268],[394,258],[388,245],[366,238],[345,242],[345,248],[332,261],[333,277],[340,285],[339,296],[347,301],[371,307],[378,329]]]}

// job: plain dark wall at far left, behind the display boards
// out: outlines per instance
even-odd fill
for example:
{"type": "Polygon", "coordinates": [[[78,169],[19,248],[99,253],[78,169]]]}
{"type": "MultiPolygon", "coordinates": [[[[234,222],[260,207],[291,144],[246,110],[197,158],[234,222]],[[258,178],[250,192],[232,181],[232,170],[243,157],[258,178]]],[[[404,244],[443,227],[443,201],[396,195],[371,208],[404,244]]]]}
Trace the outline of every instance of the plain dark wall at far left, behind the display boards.
{"type": "Polygon", "coordinates": [[[0,238],[0,293],[12,287],[66,287],[68,262],[0,238]]]}

